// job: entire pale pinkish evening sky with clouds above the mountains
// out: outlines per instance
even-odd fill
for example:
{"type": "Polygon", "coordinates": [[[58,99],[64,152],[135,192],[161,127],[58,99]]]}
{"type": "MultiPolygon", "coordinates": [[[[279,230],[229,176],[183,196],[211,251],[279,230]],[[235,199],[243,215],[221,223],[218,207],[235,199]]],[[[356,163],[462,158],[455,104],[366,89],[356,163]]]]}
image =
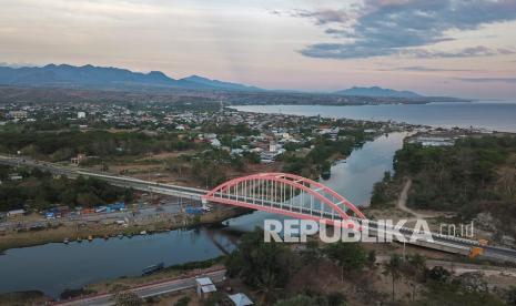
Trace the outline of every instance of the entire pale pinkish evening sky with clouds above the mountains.
{"type": "Polygon", "coordinates": [[[0,0],[0,62],[516,101],[516,0],[0,0]]]}

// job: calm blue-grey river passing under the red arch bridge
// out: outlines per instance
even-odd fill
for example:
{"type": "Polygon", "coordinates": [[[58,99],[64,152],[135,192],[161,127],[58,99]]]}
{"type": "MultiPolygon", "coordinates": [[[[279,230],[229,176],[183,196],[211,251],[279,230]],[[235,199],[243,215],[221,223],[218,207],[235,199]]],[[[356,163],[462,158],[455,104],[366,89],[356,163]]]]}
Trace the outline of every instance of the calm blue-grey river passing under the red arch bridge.
{"type": "MultiPolygon", "coordinates": [[[[331,178],[324,184],[352,203],[367,206],[374,183],[392,170],[393,154],[402,146],[404,136],[405,133],[392,133],[365,143],[345,162],[334,165],[331,178]]],[[[223,254],[220,245],[227,251],[235,247],[229,232],[250,231],[266,217],[281,218],[254,212],[230,220],[226,230],[172,231],[132,238],[8,249],[0,255],[0,293],[41,290],[58,297],[67,288],[140,275],[144,267],[160,262],[169,266],[213,258],[223,254]]]]}

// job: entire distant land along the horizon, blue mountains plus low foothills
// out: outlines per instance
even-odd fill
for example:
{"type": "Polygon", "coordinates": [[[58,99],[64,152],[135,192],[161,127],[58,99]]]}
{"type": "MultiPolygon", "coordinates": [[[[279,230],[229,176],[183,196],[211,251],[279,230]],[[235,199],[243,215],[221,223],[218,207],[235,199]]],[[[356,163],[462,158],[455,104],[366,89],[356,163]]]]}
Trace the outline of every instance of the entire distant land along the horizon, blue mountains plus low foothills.
{"type": "Polygon", "coordinates": [[[422,104],[467,101],[424,96],[412,91],[354,86],[328,93],[265,90],[200,75],[173,79],[161,71],[133,72],[113,67],[48,64],[0,67],[0,103],[17,101],[208,101],[227,104],[422,104]]]}

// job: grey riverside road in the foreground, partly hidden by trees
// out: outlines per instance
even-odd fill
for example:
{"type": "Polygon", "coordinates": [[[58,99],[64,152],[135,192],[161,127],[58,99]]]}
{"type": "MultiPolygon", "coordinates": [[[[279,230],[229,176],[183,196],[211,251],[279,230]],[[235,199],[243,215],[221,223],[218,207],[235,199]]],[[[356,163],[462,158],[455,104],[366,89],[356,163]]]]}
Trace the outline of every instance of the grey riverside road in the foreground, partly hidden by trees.
{"type": "MultiPolygon", "coordinates": [[[[145,298],[151,296],[163,295],[172,292],[179,292],[195,287],[196,277],[210,277],[214,284],[222,283],[224,280],[225,269],[214,271],[206,274],[196,275],[194,277],[180,278],[165,280],[160,283],[148,284],[130,289],[138,294],[138,296],[145,298]]],[[[113,294],[101,294],[70,302],[55,303],[54,305],[62,306],[104,306],[114,305],[113,294]]]]}

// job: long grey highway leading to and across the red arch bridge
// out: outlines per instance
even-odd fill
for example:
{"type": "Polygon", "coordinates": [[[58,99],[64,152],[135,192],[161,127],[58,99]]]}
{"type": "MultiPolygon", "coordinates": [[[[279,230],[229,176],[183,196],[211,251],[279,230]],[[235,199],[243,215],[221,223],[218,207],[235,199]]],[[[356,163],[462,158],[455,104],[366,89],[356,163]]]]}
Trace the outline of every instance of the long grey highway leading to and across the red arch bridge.
{"type": "MultiPolygon", "coordinates": [[[[153,192],[165,195],[190,197],[194,201],[201,201],[201,196],[206,194],[208,191],[201,188],[161,184],[155,182],[142,181],[139,178],[128,177],[128,176],[114,176],[105,173],[94,173],[91,171],[82,170],[75,166],[63,166],[54,163],[48,162],[37,162],[23,157],[9,157],[0,155],[0,164],[7,165],[27,165],[32,167],[39,167],[41,170],[49,171],[53,174],[65,175],[68,177],[77,177],[79,175],[97,177],[104,180],[113,185],[121,187],[131,187],[139,191],[153,192]]],[[[235,198],[234,198],[235,200],[235,198]]],[[[245,200],[242,196],[239,196],[239,200],[245,200]]],[[[279,203],[262,201],[262,205],[269,207],[281,207],[279,203]]],[[[301,208],[302,210],[302,208],[301,208]]],[[[357,220],[357,218],[355,218],[357,220]]],[[[357,220],[358,221],[358,220],[357,220]]],[[[368,221],[367,227],[370,232],[377,232],[377,223],[375,221],[368,221]]],[[[402,234],[409,236],[414,231],[407,227],[403,227],[399,231],[402,234]]],[[[439,249],[448,253],[468,255],[472,247],[482,247],[484,254],[482,257],[496,261],[507,261],[516,262],[516,249],[504,248],[498,246],[480,246],[477,241],[466,239],[462,237],[442,235],[437,233],[432,234],[433,241],[417,241],[413,243],[415,245],[439,249]]]]}

